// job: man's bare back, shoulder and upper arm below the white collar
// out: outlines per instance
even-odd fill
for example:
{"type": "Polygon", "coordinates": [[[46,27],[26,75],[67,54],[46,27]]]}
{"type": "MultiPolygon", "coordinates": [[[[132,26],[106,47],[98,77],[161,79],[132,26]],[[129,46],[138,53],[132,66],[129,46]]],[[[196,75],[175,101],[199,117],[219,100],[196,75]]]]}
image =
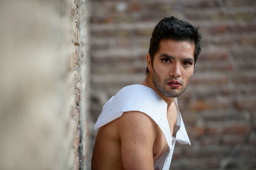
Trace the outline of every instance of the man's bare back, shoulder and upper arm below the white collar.
{"type": "Polygon", "coordinates": [[[156,136],[157,124],[147,114],[124,112],[100,127],[93,151],[93,169],[152,169],[156,136]]]}

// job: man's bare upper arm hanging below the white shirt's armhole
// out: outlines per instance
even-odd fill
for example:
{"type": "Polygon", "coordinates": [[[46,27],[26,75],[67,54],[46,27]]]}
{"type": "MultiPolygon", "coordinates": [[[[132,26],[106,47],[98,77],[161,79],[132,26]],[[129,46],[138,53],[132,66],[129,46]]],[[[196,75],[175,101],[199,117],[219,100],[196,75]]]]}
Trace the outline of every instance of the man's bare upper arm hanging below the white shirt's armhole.
{"type": "Polygon", "coordinates": [[[124,169],[154,169],[156,123],[140,111],[125,112],[118,121],[124,169]]]}

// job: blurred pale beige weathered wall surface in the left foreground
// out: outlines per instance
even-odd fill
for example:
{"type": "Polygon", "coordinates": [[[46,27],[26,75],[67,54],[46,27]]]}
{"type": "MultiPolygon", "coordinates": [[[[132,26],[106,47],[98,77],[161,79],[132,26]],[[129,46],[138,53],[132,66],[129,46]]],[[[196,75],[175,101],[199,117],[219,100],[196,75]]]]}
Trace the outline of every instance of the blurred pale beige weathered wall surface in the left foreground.
{"type": "Polygon", "coordinates": [[[86,0],[0,1],[0,169],[88,166],[87,16],[86,0]]]}

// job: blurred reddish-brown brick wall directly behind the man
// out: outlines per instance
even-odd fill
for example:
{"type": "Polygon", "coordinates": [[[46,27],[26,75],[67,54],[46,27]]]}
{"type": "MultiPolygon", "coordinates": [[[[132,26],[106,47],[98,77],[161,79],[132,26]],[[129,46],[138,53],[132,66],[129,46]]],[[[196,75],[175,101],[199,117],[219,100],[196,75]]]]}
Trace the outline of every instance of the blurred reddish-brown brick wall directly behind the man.
{"type": "Polygon", "coordinates": [[[192,146],[175,148],[172,169],[255,169],[255,2],[90,1],[93,120],[119,89],[143,81],[150,34],[174,15],[200,26],[204,39],[179,97],[192,146]]]}

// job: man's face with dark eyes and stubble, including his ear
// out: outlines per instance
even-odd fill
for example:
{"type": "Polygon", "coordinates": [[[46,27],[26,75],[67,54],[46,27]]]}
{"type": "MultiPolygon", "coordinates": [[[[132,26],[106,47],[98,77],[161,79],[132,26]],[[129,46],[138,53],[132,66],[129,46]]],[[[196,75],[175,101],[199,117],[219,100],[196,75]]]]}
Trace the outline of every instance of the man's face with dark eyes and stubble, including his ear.
{"type": "Polygon", "coordinates": [[[166,97],[179,97],[188,87],[194,72],[195,45],[189,41],[163,39],[154,56],[153,66],[148,57],[148,69],[159,92],[166,97]]]}

